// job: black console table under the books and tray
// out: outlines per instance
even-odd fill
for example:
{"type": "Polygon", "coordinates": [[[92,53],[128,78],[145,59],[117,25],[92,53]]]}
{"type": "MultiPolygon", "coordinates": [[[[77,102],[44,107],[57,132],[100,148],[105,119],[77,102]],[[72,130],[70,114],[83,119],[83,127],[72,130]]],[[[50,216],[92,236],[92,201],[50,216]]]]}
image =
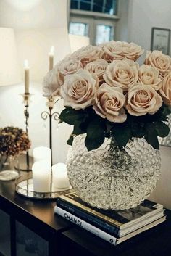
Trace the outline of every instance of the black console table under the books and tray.
{"type": "Polygon", "coordinates": [[[167,221],[114,247],[54,215],[55,202],[26,199],[13,181],[0,181],[0,255],[170,256],[171,211],[167,221]]]}

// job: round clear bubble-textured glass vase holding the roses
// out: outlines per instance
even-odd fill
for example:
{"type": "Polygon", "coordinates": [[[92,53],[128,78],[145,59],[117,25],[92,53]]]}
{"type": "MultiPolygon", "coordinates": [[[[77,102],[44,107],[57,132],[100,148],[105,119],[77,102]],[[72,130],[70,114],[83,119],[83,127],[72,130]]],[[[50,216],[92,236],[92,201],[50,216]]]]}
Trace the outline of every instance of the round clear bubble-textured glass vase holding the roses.
{"type": "Polygon", "coordinates": [[[79,197],[93,207],[124,210],[147,199],[160,175],[160,154],[145,139],[134,138],[124,149],[105,139],[87,151],[86,135],[76,136],[67,154],[67,172],[79,197]]]}

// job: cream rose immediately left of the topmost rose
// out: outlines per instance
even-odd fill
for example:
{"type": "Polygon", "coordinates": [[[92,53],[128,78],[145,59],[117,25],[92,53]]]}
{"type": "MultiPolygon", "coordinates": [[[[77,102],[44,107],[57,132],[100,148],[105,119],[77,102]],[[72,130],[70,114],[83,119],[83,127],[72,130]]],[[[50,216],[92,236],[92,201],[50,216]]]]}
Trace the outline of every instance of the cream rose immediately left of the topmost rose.
{"type": "Polygon", "coordinates": [[[75,51],[71,57],[76,57],[80,59],[81,64],[85,67],[89,62],[92,62],[96,59],[101,59],[102,50],[99,46],[86,46],[82,47],[78,51],[75,51]]]}

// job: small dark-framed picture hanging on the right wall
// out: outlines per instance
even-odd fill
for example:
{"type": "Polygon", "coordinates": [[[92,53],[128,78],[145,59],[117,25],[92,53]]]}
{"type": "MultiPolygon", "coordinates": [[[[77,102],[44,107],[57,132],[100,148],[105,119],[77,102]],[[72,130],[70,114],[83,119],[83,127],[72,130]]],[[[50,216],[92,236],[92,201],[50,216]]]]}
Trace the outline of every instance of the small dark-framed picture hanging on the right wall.
{"type": "Polygon", "coordinates": [[[163,54],[170,54],[170,29],[151,29],[151,51],[162,51],[163,54]]]}

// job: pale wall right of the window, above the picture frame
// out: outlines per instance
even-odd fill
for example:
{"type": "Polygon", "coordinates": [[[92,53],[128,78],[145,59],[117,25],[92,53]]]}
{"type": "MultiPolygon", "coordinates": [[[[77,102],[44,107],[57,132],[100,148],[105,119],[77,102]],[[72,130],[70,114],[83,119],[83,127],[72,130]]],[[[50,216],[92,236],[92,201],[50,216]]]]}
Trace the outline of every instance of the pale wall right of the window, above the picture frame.
{"type": "Polygon", "coordinates": [[[170,10],[170,0],[130,0],[128,41],[149,50],[152,27],[171,29],[170,10]]]}

